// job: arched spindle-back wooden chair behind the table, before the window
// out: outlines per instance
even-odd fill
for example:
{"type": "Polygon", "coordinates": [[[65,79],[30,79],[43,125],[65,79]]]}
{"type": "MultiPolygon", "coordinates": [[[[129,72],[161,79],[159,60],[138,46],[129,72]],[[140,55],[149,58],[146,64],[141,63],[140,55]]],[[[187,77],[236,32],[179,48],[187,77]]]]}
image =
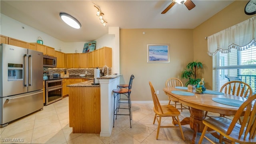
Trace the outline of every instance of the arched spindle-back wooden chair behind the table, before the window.
{"type": "MultiPolygon", "coordinates": [[[[225,94],[232,94],[234,96],[241,96],[244,98],[249,98],[253,94],[251,86],[249,84],[246,84],[245,82],[240,81],[227,82],[220,88],[220,92],[223,92],[225,94]]],[[[205,116],[208,116],[207,114],[208,112],[205,113],[205,116]]],[[[225,115],[220,114],[220,116],[224,117],[225,115]]],[[[239,121],[241,122],[241,119],[239,119],[239,121]]]]}

